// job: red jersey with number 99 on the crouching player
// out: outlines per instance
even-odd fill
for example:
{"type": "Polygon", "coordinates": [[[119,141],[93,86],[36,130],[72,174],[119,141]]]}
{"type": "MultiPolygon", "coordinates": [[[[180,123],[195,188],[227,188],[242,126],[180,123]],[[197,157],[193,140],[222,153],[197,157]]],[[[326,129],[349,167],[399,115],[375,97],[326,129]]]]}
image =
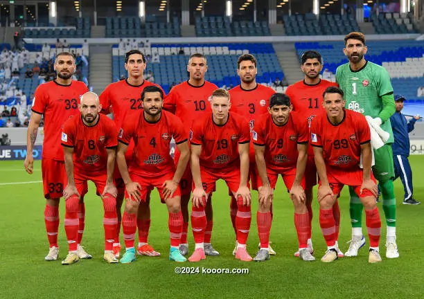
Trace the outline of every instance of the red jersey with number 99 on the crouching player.
{"type": "Polygon", "coordinates": [[[344,110],[339,125],[330,123],[327,114],[319,114],[312,120],[310,132],[312,146],[323,147],[327,167],[342,170],[359,169],[361,145],[371,140],[365,116],[351,110],[344,110]]]}

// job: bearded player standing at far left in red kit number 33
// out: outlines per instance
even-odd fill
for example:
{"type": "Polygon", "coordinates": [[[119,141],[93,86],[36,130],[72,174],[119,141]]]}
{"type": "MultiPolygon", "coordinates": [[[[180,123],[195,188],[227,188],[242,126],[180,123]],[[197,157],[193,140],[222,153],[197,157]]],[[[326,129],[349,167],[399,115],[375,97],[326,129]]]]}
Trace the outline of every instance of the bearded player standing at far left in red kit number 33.
{"type": "MultiPolygon", "coordinates": [[[[75,57],[71,53],[62,52],[56,55],[54,69],[56,79],[39,85],[35,90],[30,123],[26,134],[26,158],[24,167],[28,174],[33,174],[33,149],[39,123],[44,116],[44,142],[42,153],[42,178],[46,208],[44,209],[44,222],[46,224],[47,238],[50,245],[45,260],[58,260],[58,228],[59,228],[59,202],[63,188],[67,185],[67,175],[64,169],[63,149],[60,145],[60,129],[69,116],[78,114],[80,96],[88,91],[83,82],[73,81],[75,73],[75,57]]],[[[85,222],[84,202],[80,202],[78,244],[81,242],[82,230],[85,222]]],[[[91,257],[78,246],[80,258],[91,257]]]]}

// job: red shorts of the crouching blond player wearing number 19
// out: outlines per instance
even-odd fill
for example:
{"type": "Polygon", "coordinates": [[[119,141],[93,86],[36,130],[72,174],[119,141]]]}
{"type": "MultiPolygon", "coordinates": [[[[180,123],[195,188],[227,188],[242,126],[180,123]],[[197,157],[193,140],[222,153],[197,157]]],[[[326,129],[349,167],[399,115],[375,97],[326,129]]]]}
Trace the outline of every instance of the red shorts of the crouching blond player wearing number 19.
{"type": "MultiPolygon", "coordinates": [[[[200,176],[202,177],[203,189],[207,194],[215,191],[215,185],[218,179],[223,179],[227,183],[229,192],[231,193],[236,193],[238,187],[240,187],[240,167],[230,167],[224,171],[200,167],[200,176]]],[[[249,187],[249,182],[247,182],[247,186],[249,187]]],[[[195,185],[193,183],[193,190],[194,188],[195,185]]]]}

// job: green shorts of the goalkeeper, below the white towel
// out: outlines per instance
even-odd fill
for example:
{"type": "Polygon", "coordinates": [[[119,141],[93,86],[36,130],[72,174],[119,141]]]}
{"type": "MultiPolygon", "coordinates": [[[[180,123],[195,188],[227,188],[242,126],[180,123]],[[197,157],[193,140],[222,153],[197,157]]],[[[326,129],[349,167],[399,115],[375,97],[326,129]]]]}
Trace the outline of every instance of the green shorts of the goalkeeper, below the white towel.
{"type": "Polygon", "coordinates": [[[379,149],[374,149],[374,160],[376,165],[373,166],[373,174],[380,182],[394,179],[394,163],[391,144],[386,144],[379,149]]]}

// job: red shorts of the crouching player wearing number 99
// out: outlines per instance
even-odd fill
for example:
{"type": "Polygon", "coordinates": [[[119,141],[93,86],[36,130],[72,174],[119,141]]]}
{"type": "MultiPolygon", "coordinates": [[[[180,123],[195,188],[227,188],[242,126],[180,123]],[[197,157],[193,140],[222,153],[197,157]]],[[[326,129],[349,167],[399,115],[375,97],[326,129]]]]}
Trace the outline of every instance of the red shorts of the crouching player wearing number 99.
{"type": "MultiPolygon", "coordinates": [[[[331,190],[333,190],[333,194],[339,195],[342,192],[344,185],[351,186],[357,197],[374,197],[374,194],[368,190],[361,190],[361,185],[364,177],[364,172],[362,169],[353,170],[353,171],[343,171],[343,170],[332,170],[327,167],[327,178],[328,183],[330,183],[331,190]]],[[[374,178],[373,173],[371,172],[371,179],[376,182],[376,178],[374,178]]],[[[319,181],[319,185],[321,185],[321,181],[319,181]]]]}

